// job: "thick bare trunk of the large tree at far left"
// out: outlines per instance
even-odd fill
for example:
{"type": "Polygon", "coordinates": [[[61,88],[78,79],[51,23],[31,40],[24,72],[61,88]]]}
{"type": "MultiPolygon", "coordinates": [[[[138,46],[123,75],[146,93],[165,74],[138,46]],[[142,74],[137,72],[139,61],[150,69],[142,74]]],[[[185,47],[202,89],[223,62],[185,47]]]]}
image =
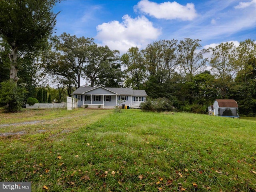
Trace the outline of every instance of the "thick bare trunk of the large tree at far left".
{"type": "Polygon", "coordinates": [[[9,54],[10,58],[10,81],[14,81],[17,84],[19,78],[17,77],[18,74],[18,65],[17,65],[17,55],[18,55],[18,47],[12,46],[12,53],[9,54]]]}

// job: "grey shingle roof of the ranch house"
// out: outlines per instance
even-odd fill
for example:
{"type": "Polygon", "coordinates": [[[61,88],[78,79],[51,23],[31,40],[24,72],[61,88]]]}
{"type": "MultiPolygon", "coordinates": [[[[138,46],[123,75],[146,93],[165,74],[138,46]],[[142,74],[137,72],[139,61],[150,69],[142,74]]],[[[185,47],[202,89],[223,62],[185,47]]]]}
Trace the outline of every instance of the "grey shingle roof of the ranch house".
{"type": "MultiPolygon", "coordinates": [[[[100,87],[79,87],[77,90],[72,92],[72,95],[75,94],[84,94],[90,90],[97,89],[100,87]]],[[[101,87],[104,88],[104,87],[101,87]]],[[[133,96],[147,96],[145,90],[133,90],[132,88],[113,88],[105,87],[104,89],[109,90],[118,95],[133,95],[133,96]]]]}

